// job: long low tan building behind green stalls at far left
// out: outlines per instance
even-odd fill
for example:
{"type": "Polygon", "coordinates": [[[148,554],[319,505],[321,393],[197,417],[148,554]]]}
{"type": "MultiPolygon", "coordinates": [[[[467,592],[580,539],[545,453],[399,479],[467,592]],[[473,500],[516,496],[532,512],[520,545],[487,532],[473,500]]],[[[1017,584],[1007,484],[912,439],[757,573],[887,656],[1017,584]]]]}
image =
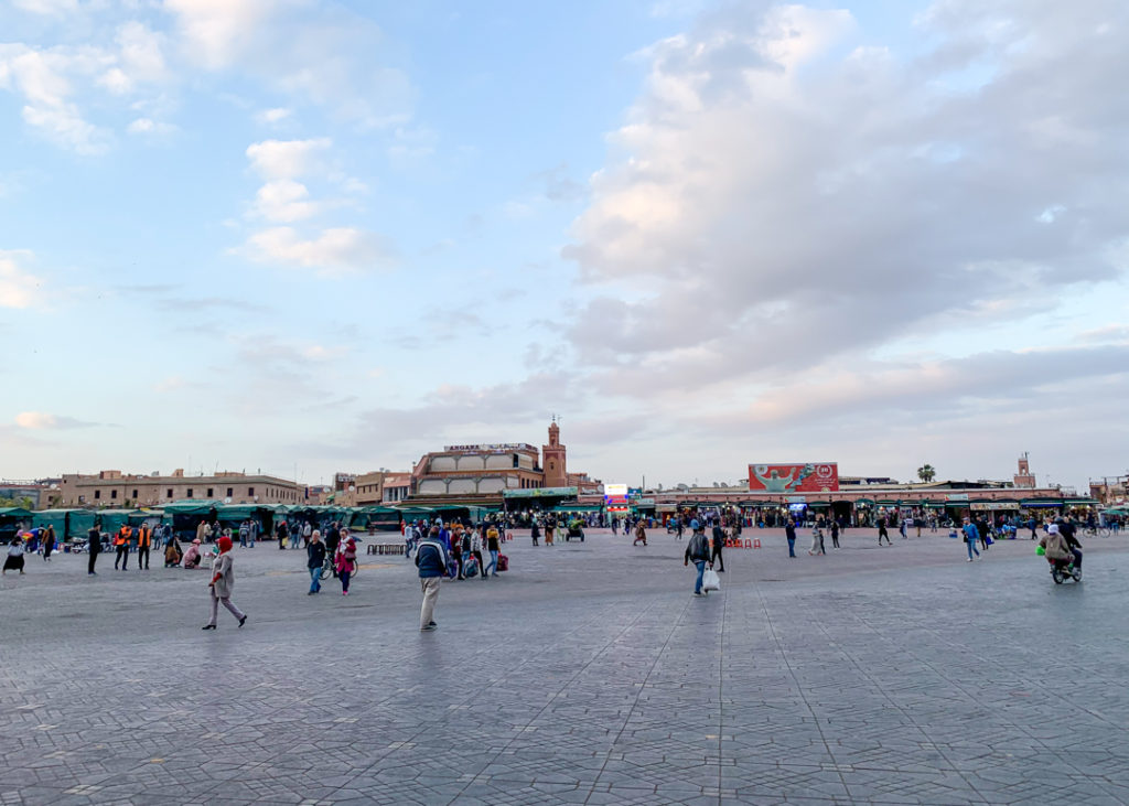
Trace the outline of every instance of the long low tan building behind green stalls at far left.
{"type": "Polygon", "coordinates": [[[133,475],[121,471],[63,475],[56,507],[159,507],[185,499],[225,503],[305,503],[306,488],[272,475],[133,475]]]}

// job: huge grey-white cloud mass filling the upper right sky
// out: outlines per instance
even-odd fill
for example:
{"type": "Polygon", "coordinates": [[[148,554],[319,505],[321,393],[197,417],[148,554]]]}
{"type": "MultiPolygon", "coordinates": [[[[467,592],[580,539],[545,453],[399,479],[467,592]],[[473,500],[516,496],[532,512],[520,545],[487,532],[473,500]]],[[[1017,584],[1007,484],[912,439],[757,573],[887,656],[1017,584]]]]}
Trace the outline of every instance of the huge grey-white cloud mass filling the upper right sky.
{"type": "Polygon", "coordinates": [[[640,54],[563,251],[596,291],[569,339],[610,388],[753,380],[1124,274],[1129,7],[934,9],[914,59],[844,11],[756,5],[640,54]]]}

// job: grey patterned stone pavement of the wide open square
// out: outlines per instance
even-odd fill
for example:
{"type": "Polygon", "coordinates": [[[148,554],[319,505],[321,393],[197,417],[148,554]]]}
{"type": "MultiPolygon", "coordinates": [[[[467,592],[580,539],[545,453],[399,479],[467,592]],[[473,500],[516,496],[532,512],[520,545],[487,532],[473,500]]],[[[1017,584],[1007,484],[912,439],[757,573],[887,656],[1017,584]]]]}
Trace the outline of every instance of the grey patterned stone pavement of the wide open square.
{"type": "Polygon", "coordinates": [[[662,532],[518,533],[434,633],[401,558],[313,597],[303,552],[236,549],[250,620],[215,632],[204,571],[29,558],[0,804],[1129,803],[1126,538],[1056,587],[1029,541],[749,534],[698,599],[662,532]]]}

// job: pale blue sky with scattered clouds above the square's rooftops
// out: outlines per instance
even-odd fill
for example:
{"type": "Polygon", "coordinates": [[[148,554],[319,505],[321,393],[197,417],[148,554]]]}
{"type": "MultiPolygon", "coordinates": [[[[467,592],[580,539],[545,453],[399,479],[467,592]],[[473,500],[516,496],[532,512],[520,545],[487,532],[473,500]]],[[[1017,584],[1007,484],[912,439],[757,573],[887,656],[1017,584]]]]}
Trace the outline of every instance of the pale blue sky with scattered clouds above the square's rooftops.
{"type": "Polygon", "coordinates": [[[1129,467],[1129,3],[0,3],[0,478],[1129,467]]]}

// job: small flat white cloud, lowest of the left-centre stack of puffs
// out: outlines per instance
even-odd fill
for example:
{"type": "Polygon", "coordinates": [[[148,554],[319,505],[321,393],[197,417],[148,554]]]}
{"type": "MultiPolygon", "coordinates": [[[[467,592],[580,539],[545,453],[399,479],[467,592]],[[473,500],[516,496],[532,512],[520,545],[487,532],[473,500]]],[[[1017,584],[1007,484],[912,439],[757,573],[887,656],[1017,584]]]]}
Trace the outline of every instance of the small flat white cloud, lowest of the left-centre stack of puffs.
{"type": "Polygon", "coordinates": [[[273,227],[252,235],[244,254],[260,263],[318,269],[329,275],[367,271],[392,259],[380,236],[353,227],[323,229],[314,238],[303,238],[291,227],[273,227]]]}

